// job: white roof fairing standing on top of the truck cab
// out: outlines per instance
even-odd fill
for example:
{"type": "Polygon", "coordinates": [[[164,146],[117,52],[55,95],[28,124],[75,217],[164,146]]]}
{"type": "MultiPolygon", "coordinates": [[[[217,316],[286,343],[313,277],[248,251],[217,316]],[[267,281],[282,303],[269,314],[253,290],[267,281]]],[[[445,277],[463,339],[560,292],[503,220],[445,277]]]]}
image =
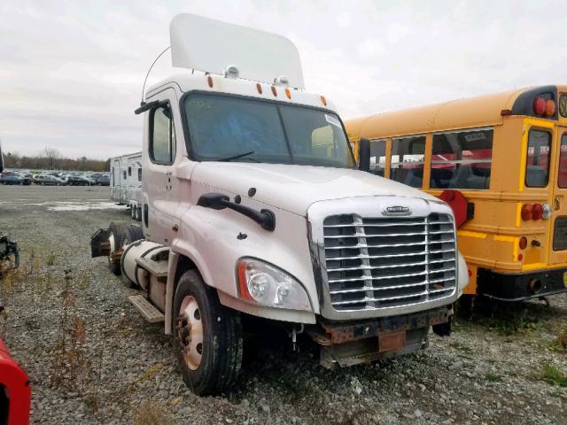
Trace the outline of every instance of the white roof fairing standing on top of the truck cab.
{"type": "Polygon", "coordinates": [[[242,79],[271,84],[285,75],[290,87],[304,89],[299,51],[283,35],[181,13],[169,37],[173,66],[222,75],[234,65],[242,79]]]}

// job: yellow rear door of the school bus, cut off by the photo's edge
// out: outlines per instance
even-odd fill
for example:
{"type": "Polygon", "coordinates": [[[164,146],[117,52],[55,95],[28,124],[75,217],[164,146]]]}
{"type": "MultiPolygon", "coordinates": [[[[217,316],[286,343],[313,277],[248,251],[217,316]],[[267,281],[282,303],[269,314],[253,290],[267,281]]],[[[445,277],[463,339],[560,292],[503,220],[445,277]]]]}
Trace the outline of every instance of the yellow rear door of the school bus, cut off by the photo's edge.
{"type": "Polygon", "coordinates": [[[549,263],[567,263],[567,127],[557,127],[549,263]]]}

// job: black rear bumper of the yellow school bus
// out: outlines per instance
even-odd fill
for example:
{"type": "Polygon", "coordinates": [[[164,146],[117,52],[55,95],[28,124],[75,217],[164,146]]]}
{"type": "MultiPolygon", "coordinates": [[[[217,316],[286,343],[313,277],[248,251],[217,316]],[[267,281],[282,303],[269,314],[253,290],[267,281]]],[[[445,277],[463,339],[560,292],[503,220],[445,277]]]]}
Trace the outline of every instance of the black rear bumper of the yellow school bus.
{"type": "Polygon", "coordinates": [[[478,269],[478,295],[499,301],[524,301],[567,292],[567,268],[521,274],[478,269]]]}

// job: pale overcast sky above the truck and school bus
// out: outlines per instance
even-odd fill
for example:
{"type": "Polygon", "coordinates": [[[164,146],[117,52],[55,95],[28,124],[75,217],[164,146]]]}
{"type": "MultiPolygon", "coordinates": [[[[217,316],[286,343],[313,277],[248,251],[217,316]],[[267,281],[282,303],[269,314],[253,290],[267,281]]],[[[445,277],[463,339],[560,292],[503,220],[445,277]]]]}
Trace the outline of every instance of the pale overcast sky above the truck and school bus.
{"type": "MultiPolygon", "coordinates": [[[[567,83],[567,1],[0,2],[4,151],[139,151],[144,75],[179,12],[286,35],[343,119],[567,83]],[[117,4],[119,3],[119,4],[117,4]]],[[[197,41],[203,42],[203,41],[197,41]]],[[[164,56],[150,82],[171,71],[164,56]]]]}

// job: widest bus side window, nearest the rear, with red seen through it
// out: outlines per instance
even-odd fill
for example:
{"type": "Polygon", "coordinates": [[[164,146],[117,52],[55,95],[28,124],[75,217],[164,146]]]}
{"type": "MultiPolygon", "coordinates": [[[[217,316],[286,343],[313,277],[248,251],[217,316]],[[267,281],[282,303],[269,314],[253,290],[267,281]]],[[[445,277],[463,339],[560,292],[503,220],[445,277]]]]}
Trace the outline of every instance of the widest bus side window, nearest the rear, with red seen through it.
{"type": "Polygon", "coordinates": [[[431,189],[489,189],[493,130],[433,135],[431,189]]]}

